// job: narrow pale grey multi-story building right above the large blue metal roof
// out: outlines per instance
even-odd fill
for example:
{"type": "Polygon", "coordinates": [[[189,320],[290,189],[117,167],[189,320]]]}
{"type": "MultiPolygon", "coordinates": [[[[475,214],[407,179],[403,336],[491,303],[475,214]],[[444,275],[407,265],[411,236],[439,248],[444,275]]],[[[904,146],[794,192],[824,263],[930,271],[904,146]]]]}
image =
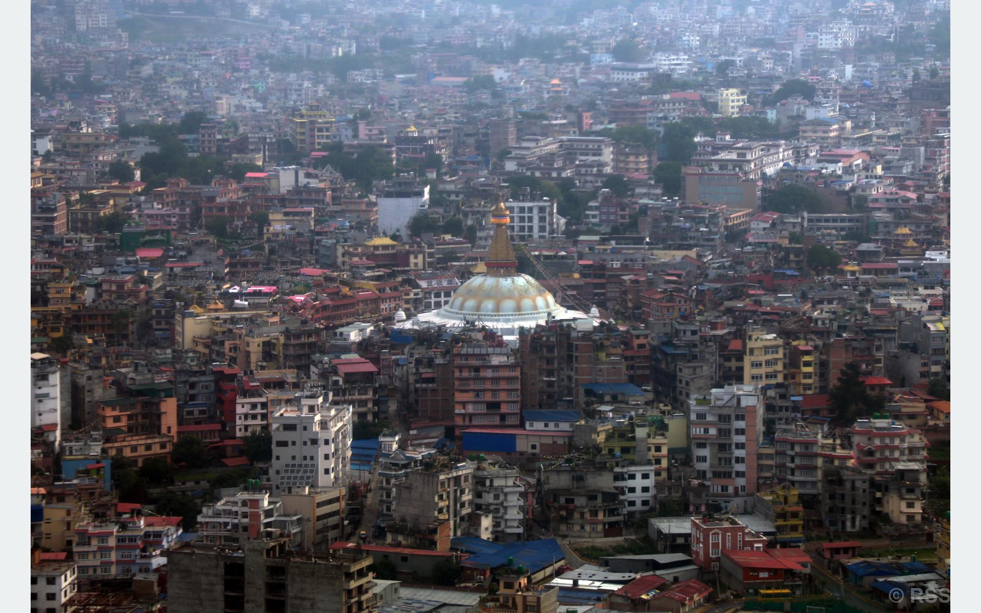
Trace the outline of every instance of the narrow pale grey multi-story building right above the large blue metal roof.
{"type": "Polygon", "coordinates": [[[526,503],[525,485],[518,469],[493,460],[478,461],[474,470],[474,511],[490,513],[492,540],[524,540],[526,503]]]}

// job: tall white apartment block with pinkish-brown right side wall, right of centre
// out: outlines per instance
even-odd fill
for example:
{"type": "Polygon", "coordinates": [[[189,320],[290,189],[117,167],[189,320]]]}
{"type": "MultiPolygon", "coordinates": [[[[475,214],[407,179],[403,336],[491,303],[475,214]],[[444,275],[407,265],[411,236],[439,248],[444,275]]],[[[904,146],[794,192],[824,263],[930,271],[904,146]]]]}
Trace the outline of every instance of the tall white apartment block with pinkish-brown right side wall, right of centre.
{"type": "Polygon", "coordinates": [[[726,385],[692,398],[692,453],[696,476],[708,486],[707,502],[749,512],[757,486],[763,413],[758,385],[726,385]]]}

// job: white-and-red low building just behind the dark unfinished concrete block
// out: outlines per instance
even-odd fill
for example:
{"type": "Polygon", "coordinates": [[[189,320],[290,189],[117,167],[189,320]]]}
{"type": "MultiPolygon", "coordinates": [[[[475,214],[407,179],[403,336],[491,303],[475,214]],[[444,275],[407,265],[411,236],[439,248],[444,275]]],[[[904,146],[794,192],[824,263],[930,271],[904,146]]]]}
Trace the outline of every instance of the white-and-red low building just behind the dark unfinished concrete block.
{"type": "Polygon", "coordinates": [[[201,513],[197,516],[197,540],[241,544],[260,538],[265,531],[278,530],[298,545],[303,537],[301,524],[304,518],[300,513],[287,514],[281,498],[270,496],[253,482],[247,491],[201,505],[201,513]]]}

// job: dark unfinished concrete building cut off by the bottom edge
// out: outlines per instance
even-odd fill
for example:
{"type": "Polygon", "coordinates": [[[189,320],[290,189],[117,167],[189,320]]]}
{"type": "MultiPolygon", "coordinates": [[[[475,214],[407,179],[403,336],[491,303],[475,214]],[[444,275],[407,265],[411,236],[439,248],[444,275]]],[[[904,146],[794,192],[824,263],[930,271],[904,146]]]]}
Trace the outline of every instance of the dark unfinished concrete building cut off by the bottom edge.
{"type": "Polygon", "coordinates": [[[365,613],[375,610],[371,556],[294,551],[267,531],[239,546],[184,544],[170,552],[168,607],[175,613],[365,613]]]}

